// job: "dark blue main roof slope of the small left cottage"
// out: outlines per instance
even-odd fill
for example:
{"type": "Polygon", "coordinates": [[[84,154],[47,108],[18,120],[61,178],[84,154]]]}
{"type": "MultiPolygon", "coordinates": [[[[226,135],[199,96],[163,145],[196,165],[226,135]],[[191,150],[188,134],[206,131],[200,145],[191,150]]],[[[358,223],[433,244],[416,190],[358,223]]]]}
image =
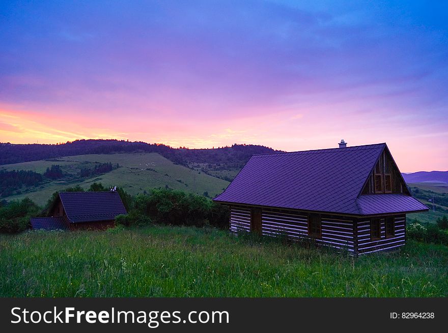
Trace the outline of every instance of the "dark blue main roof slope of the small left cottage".
{"type": "Polygon", "coordinates": [[[126,214],[118,192],[60,192],[62,204],[71,222],[115,220],[126,214]]]}

